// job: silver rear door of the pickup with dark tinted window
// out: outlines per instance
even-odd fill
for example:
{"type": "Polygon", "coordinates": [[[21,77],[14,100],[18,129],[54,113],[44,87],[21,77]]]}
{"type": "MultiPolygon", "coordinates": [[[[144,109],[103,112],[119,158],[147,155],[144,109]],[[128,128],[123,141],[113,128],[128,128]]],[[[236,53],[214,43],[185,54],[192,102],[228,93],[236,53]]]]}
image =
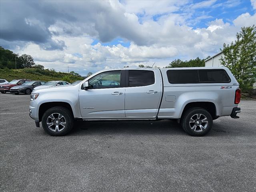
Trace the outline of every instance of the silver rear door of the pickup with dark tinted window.
{"type": "Polygon", "coordinates": [[[158,69],[126,70],[126,117],[155,118],[161,92],[162,78],[158,69]]]}

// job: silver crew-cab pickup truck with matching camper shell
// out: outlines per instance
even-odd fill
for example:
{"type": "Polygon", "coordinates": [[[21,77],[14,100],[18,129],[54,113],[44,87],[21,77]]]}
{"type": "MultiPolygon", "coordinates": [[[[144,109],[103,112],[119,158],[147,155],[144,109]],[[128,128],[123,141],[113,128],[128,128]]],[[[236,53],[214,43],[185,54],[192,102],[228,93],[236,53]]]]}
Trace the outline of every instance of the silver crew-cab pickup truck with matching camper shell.
{"type": "Polygon", "coordinates": [[[118,68],[76,85],[34,90],[29,114],[52,136],[70,132],[74,120],[176,119],[203,136],[221,116],[239,118],[239,84],[228,68],[118,68]]]}

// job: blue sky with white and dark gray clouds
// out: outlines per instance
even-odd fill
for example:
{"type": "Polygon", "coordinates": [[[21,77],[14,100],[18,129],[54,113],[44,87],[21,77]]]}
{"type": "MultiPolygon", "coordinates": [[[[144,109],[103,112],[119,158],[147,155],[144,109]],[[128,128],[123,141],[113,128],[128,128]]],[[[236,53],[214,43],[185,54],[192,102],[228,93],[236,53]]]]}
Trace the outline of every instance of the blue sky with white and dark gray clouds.
{"type": "Polygon", "coordinates": [[[0,45],[86,75],[206,58],[256,24],[255,0],[0,1],[0,45]]]}

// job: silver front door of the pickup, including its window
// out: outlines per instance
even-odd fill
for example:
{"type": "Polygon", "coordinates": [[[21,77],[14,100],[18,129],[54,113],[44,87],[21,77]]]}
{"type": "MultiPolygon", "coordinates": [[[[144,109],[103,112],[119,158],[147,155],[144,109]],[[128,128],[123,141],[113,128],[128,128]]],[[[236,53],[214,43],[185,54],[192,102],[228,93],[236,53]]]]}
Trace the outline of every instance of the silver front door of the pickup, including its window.
{"type": "Polygon", "coordinates": [[[125,88],[121,70],[102,72],[88,80],[79,92],[80,111],[86,119],[124,118],[125,88]]]}

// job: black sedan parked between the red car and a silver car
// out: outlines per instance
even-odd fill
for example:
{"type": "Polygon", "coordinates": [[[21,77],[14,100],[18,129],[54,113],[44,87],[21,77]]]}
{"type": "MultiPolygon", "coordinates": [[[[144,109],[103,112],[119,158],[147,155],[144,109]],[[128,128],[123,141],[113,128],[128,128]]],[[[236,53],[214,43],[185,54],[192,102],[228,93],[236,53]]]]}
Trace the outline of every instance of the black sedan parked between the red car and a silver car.
{"type": "Polygon", "coordinates": [[[44,81],[28,81],[22,85],[17,85],[10,88],[10,92],[16,95],[19,93],[30,94],[35,87],[44,85],[45,83],[46,82],[44,81]]]}

